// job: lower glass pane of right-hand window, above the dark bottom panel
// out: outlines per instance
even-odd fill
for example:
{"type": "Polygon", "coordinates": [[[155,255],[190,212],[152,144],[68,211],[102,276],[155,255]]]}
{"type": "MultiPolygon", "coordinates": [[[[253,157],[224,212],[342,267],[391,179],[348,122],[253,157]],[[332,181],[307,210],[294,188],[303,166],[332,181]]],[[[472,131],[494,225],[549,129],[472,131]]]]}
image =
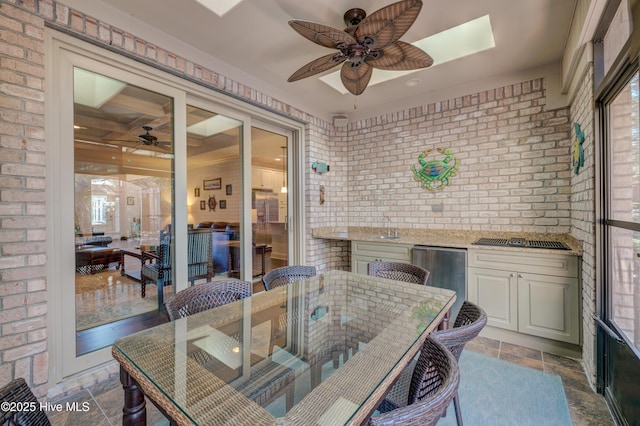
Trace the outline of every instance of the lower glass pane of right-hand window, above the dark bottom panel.
{"type": "Polygon", "coordinates": [[[611,228],[611,319],[640,349],[640,232],[611,228]]]}

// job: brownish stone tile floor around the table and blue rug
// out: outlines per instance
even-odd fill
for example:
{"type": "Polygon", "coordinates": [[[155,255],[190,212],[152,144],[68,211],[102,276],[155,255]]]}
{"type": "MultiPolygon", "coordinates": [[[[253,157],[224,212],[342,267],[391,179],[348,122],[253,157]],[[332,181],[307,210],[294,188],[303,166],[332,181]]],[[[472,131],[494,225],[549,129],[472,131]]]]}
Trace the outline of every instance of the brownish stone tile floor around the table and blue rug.
{"type": "MultiPolygon", "coordinates": [[[[467,344],[466,349],[559,375],[564,384],[574,425],[605,426],[615,424],[604,398],[591,390],[579,362],[484,337],[472,340],[467,344]]],[[[54,426],[122,424],[123,392],[117,375],[105,383],[89,387],[62,400],[51,402],[63,404],[78,402],[79,406],[82,406],[84,402],[89,403],[89,409],[86,411],[62,411],[51,414],[50,419],[54,426]]],[[[169,424],[153,404],[147,404],[147,416],[147,424],[169,424]]]]}

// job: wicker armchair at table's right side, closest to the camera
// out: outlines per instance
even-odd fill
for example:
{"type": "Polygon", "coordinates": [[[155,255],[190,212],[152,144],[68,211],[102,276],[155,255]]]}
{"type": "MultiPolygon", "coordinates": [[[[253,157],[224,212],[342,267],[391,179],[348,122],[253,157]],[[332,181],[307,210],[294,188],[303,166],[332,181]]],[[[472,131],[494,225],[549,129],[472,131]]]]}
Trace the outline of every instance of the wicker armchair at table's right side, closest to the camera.
{"type": "MultiPolygon", "coordinates": [[[[369,419],[373,426],[430,426],[435,425],[446,413],[451,400],[458,392],[460,371],[453,354],[442,343],[428,336],[420,357],[412,362],[411,375],[402,374],[398,381],[407,381],[408,395],[403,402],[394,401],[394,391],[380,404],[381,414],[369,419]]],[[[405,369],[405,371],[407,371],[405,369]]],[[[404,373],[404,372],[403,372],[404,373]]],[[[405,384],[401,384],[404,388],[405,384]]]]}

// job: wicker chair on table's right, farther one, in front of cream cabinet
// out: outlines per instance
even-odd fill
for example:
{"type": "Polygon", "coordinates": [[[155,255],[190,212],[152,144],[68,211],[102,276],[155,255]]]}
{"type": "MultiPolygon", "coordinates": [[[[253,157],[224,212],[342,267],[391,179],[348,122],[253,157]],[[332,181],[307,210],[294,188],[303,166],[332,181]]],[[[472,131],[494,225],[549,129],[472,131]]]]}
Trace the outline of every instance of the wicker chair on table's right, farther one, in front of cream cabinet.
{"type": "MultiPolygon", "coordinates": [[[[487,314],[484,310],[465,300],[460,307],[456,321],[453,323],[453,328],[435,331],[431,333],[431,336],[445,345],[456,358],[456,361],[459,361],[464,345],[475,338],[486,324],[487,314]]],[[[456,410],[458,426],[462,426],[462,413],[460,412],[460,401],[457,393],[453,398],[453,406],[456,410]]]]}

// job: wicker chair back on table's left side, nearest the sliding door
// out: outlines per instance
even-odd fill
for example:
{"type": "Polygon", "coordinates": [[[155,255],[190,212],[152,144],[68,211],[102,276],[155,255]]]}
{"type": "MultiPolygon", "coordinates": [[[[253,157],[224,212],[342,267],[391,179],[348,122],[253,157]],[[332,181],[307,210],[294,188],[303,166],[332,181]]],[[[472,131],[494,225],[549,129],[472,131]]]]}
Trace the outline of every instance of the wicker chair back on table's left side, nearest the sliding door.
{"type": "Polygon", "coordinates": [[[252,284],[249,281],[210,281],[177,292],[165,302],[164,309],[169,321],[174,321],[244,299],[251,296],[251,293],[252,284]]]}

